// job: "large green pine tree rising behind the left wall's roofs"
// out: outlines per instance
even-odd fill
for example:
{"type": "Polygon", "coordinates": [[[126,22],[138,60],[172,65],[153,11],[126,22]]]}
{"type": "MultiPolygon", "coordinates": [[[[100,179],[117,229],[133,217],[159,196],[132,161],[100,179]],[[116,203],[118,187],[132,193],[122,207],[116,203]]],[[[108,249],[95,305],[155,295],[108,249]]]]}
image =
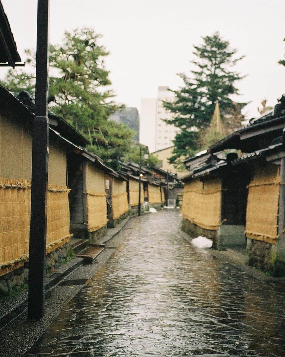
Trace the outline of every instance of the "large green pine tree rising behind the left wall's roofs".
{"type": "MultiPolygon", "coordinates": [[[[49,107],[89,141],[88,149],[107,164],[115,165],[131,150],[134,132],[108,120],[122,107],[114,102],[109,71],[100,45],[101,35],[83,28],[64,33],[63,43],[50,46],[49,107]]],[[[35,53],[26,51],[27,63],[35,67],[35,53]]],[[[10,70],[1,84],[17,95],[27,90],[35,95],[35,71],[10,70]]]]}

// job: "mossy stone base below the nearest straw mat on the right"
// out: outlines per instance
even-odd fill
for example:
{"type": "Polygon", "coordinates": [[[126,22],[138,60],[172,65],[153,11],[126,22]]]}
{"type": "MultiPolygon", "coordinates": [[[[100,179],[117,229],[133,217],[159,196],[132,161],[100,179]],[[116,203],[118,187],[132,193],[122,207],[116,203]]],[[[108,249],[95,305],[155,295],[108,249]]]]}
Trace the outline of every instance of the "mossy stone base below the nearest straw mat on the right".
{"type": "Polygon", "coordinates": [[[247,263],[264,273],[273,275],[276,245],[247,238],[247,263]]]}

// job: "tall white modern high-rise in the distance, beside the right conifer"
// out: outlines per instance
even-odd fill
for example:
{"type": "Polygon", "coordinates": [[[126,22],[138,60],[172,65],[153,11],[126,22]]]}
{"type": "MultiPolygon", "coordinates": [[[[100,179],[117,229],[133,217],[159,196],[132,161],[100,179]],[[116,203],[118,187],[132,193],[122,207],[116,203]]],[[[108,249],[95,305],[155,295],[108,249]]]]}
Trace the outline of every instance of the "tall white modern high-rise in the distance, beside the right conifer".
{"type": "Polygon", "coordinates": [[[140,143],[147,145],[150,152],[173,146],[172,140],[179,129],[162,120],[172,118],[172,114],[162,106],[162,101],[172,100],[173,96],[165,86],[158,87],[156,98],[141,100],[140,143]]]}

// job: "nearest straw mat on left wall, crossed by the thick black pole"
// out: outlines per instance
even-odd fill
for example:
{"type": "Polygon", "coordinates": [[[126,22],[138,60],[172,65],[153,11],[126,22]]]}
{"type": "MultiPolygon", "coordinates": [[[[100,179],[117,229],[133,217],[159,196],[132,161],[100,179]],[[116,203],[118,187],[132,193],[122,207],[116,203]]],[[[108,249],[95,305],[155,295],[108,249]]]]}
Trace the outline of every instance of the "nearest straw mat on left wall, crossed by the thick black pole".
{"type": "MultiPolygon", "coordinates": [[[[71,237],[68,192],[66,186],[48,185],[47,253],[71,237]]],[[[30,207],[30,181],[0,178],[0,276],[28,260],[30,207]]]]}

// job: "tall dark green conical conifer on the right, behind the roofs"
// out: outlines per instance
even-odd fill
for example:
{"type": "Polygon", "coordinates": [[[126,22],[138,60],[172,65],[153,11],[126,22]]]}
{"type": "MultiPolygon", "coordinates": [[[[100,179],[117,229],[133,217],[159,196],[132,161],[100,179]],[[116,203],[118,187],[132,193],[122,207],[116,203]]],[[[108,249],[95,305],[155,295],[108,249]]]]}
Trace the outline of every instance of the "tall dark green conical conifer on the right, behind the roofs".
{"type": "MultiPolygon", "coordinates": [[[[180,128],[173,140],[171,163],[201,149],[200,137],[211,121],[217,101],[222,117],[235,109],[231,95],[239,94],[235,82],[244,77],[232,70],[243,56],[235,57],[237,50],[231,49],[228,41],[218,32],[202,39],[201,45],[193,46],[195,59],[191,63],[195,69],[191,70],[191,77],[178,74],[183,86],[177,91],[171,90],[175,94],[173,102],[164,102],[164,107],[173,113],[173,119],[165,121],[180,128]]],[[[238,103],[238,106],[241,109],[246,104],[238,103]]],[[[227,128],[226,122],[224,126],[227,128]]]]}

